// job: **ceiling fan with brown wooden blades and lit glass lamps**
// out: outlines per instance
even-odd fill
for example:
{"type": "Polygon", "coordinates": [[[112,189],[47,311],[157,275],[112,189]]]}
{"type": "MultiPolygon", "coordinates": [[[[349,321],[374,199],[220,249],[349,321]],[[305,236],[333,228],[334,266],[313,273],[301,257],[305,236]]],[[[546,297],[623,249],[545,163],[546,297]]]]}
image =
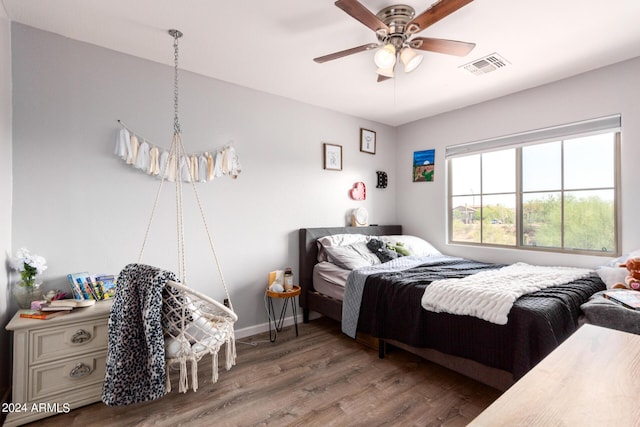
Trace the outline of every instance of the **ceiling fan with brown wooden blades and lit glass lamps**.
{"type": "Polygon", "coordinates": [[[404,4],[385,7],[374,15],[358,0],[338,0],[335,2],[336,6],[376,32],[378,43],[368,43],[341,50],[329,55],[319,56],[313,60],[323,63],[354,53],[378,49],[374,61],[378,67],[376,72],[380,82],[394,76],[398,59],[404,65],[404,71],[407,73],[418,68],[422,62],[422,55],[418,54],[415,49],[465,56],[476,46],[475,43],[412,36],[472,1],[439,0],[420,15],[415,16],[415,10],[411,6],[404,4]]]}

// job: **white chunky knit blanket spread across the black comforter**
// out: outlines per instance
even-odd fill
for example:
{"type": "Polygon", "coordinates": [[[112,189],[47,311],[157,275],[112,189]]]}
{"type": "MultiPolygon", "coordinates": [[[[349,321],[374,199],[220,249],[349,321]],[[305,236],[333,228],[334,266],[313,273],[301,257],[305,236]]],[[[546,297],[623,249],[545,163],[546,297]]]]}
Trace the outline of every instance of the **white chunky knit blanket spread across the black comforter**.
{"type": "Polygon", "coordinates": [[[591,270],[516,263],[461,279],[432,282],[422,296],[422,307],[435,312],[475,316],[505,325],[516,299],[549,286],[588,276],[591,270]]]}

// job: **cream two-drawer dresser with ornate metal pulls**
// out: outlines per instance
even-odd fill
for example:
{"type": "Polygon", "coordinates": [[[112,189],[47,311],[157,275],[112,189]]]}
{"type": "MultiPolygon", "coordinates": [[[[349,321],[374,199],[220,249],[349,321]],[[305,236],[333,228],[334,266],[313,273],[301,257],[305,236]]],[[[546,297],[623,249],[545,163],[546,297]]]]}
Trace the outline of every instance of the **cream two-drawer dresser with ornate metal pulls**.
{"type": "Polygon", "coordinates": [[[47,320],[23,319],[13,331],[13,393],[5,426],[67,413],[101,400],[111,301],[47,320]]]}

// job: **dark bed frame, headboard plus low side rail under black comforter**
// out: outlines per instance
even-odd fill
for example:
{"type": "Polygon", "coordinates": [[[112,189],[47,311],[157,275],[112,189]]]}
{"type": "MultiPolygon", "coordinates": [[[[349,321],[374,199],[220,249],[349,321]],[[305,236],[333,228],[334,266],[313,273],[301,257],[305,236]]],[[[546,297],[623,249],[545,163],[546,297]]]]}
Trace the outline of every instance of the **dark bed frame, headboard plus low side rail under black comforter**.
{"type": "MultiPolygon", "coordinates": [[[[301,228],[300,238],[300,306],[303,321],[309,322],[309,313],[314,311],[340,322],[342,320],[342,301],[328,297],[313,288],[313,267],[318,263],[316,240],[332,234],[365,234],[384,236],[402,234],[400,225],[376,225],[368,227],[325,227],[301,228]]],[[[378,340],[378,354],[384,357],[386,344],[402,348],[426,360],[473,378],[498,390],[506,390],[514,384],[511,372],[492,368],[474,360],[448,355],[430,348],[417,348],[395,340],[378,340]]]]}

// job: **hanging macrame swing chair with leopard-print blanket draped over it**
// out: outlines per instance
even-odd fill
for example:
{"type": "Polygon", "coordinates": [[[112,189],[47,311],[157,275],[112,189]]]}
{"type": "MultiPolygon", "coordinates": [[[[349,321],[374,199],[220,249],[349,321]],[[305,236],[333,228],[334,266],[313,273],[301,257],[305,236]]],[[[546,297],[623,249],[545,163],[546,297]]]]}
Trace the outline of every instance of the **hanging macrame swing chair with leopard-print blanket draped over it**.
{"type": "MultiPolygon", "coordinates": [[[[188,380],[188,367],[191,366],[191,388],[193,391],[198,389],[198,362],[207,355],[212,356],[212,381],[216,382],[218,380],[218,352],[221,347],[225,346],[226,353],[226,369],[229,370],[233,365],[235,365],[236,359],[236,349],[235,349],[235,338],[234,338],[234,324],[238,320],[236,313],[233,311],[233,305],[231,304],[231,298],[229,295],[229,290],[227,288],[226,282],[224,280],[224,276],[222,274],[222,270],[220,268],[220,263],[218,261],[218,256],[216,253],[215,246],[213,244],[213,239],[211,238],[211,233],[209,231],[209,227],[207,225],[206,217],[204,214],[204,210],[202,207],[202,203],[200,201],[200,197],[198,195],[198,191],[196,188],[196,179],[191,179],[191,184],[195,194],[195,200],[197,202],[200,214],[202,216],[202,220],[204,223],[204,228],[206,231],[206,235],[208,237],[208,242],[211,248],[211,252],[213,255],[213,260],[217,267],[217,273],[220,277],[220,281],[224,288],[225,298],[228,301],[228,306],[222,304],[213,298],[204,295],[200,292],[195,291],[187,286],[187,272],[186,272],[186,263],[185,263],[185,239],[184,239],[184,219],[183,219],[183,205],[182,205],[182,184],[183,180],[180,179],[180,160],[187,158],[187,153],[182,143],[181,131],[180,131],[180,122],[178,118],[178,39],[182,37],[182,33],[178,30],[169,30],[169,34],[173,36],[174,39],[174,133],[173,140],[171,143],[171,147],[169,149],[169,161],[167,161],[165,166],[165,171],[161,174],[162,180],[160,182],[160,186],[158,188],[155,201],[153,204],[153,209],[151,211],[151,217],[149,219],[149,224],[147,225],[144,240],[142,243],[142,248],[140,250],[140,255],[138,258],[138,264],[129,264],[126,266],[120,276],[118,278],[118,286],[120,286],[120,281],[123,282],[123,287],[128,286],[128,283],[125,282],[139,282],[140,284],[136,284],[140,289],[136,289],[135,292],[130,292],[136,296],[144,295],[146,289],[153,288],[159,289],[154,290],[152,292],[156,292],[155,296],[162,300],[161,309],[157,308],[157,312],[159,314],[158,318],[160,319],[161,331],[156,332],[155,338],[150,339],[146,337],[141,342],[143,345],[149,346],[154,344],[154,341],[162,342],[162,338],[164,338],[164,366],[158,366],[161,363],[158,360],[157,352],[151,350],[148,353],[152,354],[150,356],[150,361],[145,362],[144,369],[150,369],[150,373],[144,374],[144,377],[162,377],[161,381],[164,381],[164,384],[150,384],[146,387],[146,390],[140,394],[144,396],[134,396],[132,398],[127,398],[128,400],[123,402],[123,399],[117,396],[117,391],[121,390],[123,387],[118,386],[117,384],[111,385],[109,383],[110,388],[106,387],[106,383],[110,379],[110,377],[116,377],[116,372],[119,368],[119,365],[122,365],[122,360],[115,360],[116,354],[112,359],[112,366],[110,366],[109,356],[107,360],[107,377],[105,379],[105,392],[103,394],[103,401],[107,404],[129,404],[135,403],[138,401],[150,400],[157,397],[161,397],[164,393],[171,391],[171,381],[169,371],[175,369],[176,367],[180,370],[180,381],[179,381],[179,391],[187,392],[189,389],[189,380],[188,380]],[[175,168],[173,172],[174,174],[167,174],[169,168],[175,168]],[[158,206],[158,200],[160,198],[160,194],[162,192],[162,187],[165,182],[165,177],[167,176],[175,176],[175,187],[176,187],[176,214],[177,214],[177,234],[178,234],[178,276],[169,271],[164,271],[161,269],[157,269],[155,267],[147,266],[141,264],[142,257],[144,254],[145,244],[147,242],[147,237],[149,235],[149,231],[151,229],[151,225],[153,223],[153,218],[156,212],[156,208],[158,206]],[[160,337],[160,334],[162,336],[160,337]],[[153,358],[156,358],[154,361],[153,358]],[[152,368],[147,368],[147,366],[152,366],[152,368]],[[162,371],[162,375],[156,375],[157,372],[162,371]],[[159,387],[161,388],[159,390],[159,387]],[[163,389],[162,389],[163,388],[163,389]],[[108,393],[107,393],[108,391],[108,393]],[[116,396],[112,398],[111,396],[116,396]],[[106,396],[106,398],[104,397],[106,396]]],[[[193,177],[192,177],[193,178],[193,177]]],[[[118,291],[117,291],[118,292],[118,291]]],[[[146,296],[140,297],[142,299],[147,298],[146,296]]],[[[150,300],[152,298],[148,298],[150,300]]],[[[116,304],[119,304],[118,295],[116,294],[116,300],[114,302],[114,307],[116,304]]],[[[136,301],[134,305],[138,304],[136,301]]],[[[148,304],[145,302],[139,303],[141,306],[144,304],[148,304]]],[[[119,307],[125,306],[125,303],[120,304],[119,307]]],[[[153,304],[150,304],[153,305],[153,304]]],[[[157,304],[159,305],[159,304],[157,304]]],[[[112,318],[113,318],[113,309],[112,309],[112,318]]],[[[149,317],[152,317],[153,320],[157,320],[153,316],[148,316],[145,314],[143,326],[144,333],[148,333],[149,330],[149,317]]],[[[113,323],[117,323],[118,320],[113,321],[113,323]]],[[[126,323],[126,321],[120,321],[120,323],[126,323]]],[[[158,323],[158,322],[156,322],[158,323]]],[[[112,327],[112,319],[110,319],[110,329],[112,327]]],[[[122,326],[120,326],[122,328],[122,326]]],[[[122,329],[118,332],[113,331],[113,335],[116,333],[122,333],[122,329]]],[[[111,346],[111,334],[110,330],[110,343],[111,346]]],[[[114,337],[114,340],[118,339],[122,341],[121,337],[114,337]]],[[[160,344],[161,346],[162,344],[160,344]]],[[[111,351],[111,350],[110,350],[111,351]]],[[[134,350],[135,351],[135,350],[134,350]]],[[[124,353],[124,352],[123,352],[124,353]]],[[[126,354],[126,353],[125,353],[126,354]]],[[[160,348],[160,354],[162,354],[162,348],[160,348]]],[[[138,374],[138,372],[136,372],[138,374]]],[[[129,381],[129,380],[128,380],[129,381]]],[[[146,381],[146,379],[145,379],[146,381]]],[[[149,380],[153,381],[153,380],[149,380]]],[[[129,381],[135,382],[135,381],[129,381]]],[[[158,381],[156,381],[158,382],[158,381]]],[[[125,384],[122,382],[122,384],[125,384]]],[[[128,385],[127,385],[128,387],[128,385]]],[[[126,387],[124,387],[126,388],[126,387]]],[[[128,391],[126,393],[129,393],[128,391]]],[[[125,393],[125,394],[126,394],[125,393]]],[[[137,393],[137,391],[135,392],[137,393]]],[[[133,393],[131,393],[133,394],[133,393]]]]}

